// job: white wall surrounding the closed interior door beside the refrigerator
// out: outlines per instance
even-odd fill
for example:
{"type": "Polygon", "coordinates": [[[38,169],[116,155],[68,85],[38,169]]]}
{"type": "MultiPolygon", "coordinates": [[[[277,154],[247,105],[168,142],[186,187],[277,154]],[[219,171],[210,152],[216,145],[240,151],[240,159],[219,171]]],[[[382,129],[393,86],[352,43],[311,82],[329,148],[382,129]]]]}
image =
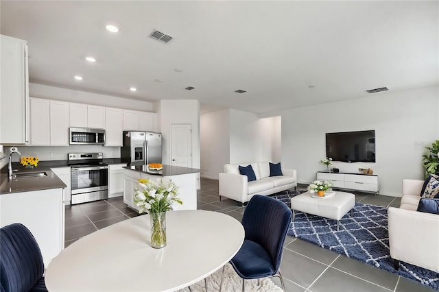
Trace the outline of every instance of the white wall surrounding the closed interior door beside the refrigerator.
{"type": "MultiPolygon", "coordinates": [[[[160,102],[160,117],[161,132],[163,138],[163,164],[170,165],[171,145],[169,143],[171,137],[171,125],[176,124],[191,124],[192,130],[192,167],[200,168],[200,103],[198,100],[176,100],[167,99],[160,102]]],[[[158,108],[156,106],[156,108],[158,108]]]]}

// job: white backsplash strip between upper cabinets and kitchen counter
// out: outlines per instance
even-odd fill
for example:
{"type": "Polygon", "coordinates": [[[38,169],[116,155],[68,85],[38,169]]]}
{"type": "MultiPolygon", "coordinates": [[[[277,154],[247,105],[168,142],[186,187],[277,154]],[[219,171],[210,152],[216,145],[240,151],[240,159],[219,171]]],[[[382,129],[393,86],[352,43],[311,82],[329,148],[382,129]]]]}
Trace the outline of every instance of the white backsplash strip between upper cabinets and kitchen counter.
{"type": "MultiPolygon", "coordinates": [[[[71,145],[71,146],[19,146],[17,147],[21,156],[36,156],[39,160],[67,160],[69,153],[88,153],[88,152],[102,152],[104,158],[120,158],[120,147],[104,147],[99,145],[71,145]]],[[[3,150],[8,156],[10,154],[10,147],[5,146],[3,150]]],[[[8,163],[7,159],[6,163],[8,163]]],[[[19,162],[19,156],[12,156],[13,162],[19,162]]],[[[0,161],[3,164],[3,161],[0,161]]]]}

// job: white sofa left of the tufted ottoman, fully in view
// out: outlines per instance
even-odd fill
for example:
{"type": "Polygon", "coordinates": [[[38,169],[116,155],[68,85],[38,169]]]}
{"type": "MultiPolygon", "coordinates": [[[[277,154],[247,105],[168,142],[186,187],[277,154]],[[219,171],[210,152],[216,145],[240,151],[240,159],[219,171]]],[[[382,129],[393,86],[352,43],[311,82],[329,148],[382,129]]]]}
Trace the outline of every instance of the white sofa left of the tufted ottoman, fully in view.
{"type": "Polygon", "coordinates": [[[219,173],[219,198],[228,197],[244,204],[253,195],[271,195],[297,186],[296,169],[282,168],[282,173],[270,176],[268,161],[224,165],[224,173],[219,173]],[[239,173],[239,165],[252,165],[256,180],[248,182],[247,175],[239,173]]]}

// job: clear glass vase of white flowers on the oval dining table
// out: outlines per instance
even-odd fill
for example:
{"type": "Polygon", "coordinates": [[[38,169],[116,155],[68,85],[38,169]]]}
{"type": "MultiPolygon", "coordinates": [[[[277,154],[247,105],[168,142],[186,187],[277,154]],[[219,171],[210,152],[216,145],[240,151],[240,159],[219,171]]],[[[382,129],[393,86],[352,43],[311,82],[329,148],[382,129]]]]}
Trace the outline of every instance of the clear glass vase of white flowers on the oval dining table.
{"type": "Polygon", "coordinates": [[[134,203],[139,207],[139,214],[147,211],[151,218],[151,246],[165,247],[166,212],[174,203],[182,204],[177,197],[178,186],[169,179],[139,180],[139,188],[134,189],[134,203]]]}

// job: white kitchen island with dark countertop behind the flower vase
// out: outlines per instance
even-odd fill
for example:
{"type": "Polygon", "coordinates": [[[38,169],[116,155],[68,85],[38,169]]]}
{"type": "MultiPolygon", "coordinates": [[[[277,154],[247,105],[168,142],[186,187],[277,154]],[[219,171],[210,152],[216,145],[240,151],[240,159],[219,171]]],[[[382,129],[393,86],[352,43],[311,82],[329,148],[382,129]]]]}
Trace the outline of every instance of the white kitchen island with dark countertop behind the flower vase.
{"type": "Polygon", "coordinates": [[[123,167],[123,202],[134,210],[139,210],[133,202],[134,189],[139,187],[139,179],[156,180],[167,178],[178,186],[178,197],[183,204],[174,204],[174,210],[196,210],[197,188],[200,169],[163,165],[159,171],[151,170],[147,165],[123,167]]]}

